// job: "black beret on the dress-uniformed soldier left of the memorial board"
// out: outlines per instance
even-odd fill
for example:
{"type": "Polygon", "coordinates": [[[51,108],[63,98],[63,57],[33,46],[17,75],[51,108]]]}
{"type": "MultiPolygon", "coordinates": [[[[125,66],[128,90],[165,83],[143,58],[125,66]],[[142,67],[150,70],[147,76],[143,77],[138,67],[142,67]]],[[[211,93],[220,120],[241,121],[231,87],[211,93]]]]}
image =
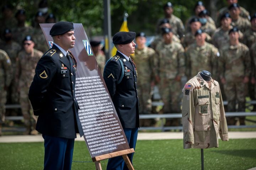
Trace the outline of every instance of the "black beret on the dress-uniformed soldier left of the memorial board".
{"type": "Polygon", "coordinates": [[[68,31],[73,31],[73,22],[60,21],[55,23],[50,29],[50,35],[62,35],[68,31]]]}

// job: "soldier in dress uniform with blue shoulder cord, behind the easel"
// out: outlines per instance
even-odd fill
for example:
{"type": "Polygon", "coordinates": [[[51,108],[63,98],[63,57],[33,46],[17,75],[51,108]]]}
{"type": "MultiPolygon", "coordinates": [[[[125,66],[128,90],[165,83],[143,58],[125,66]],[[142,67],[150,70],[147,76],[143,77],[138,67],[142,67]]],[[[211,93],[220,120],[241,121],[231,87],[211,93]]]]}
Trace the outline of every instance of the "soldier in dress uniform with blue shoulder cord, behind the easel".
{"type": "MultiPolygon", "coordinates": [[[[107,61],[103,74],[129,146],[134,149],[139,127],[139,99],[137,69],[130,55],[135,50],[135,35],[135,32],[118,32],[113,36],[117,53],[107,61]]],[[[133,153],[128,154],[128,157],[132,163],[133,153]]],[[[108,160],[107,170],[123,169],[128,168],[121,156],[108,160]]]]}

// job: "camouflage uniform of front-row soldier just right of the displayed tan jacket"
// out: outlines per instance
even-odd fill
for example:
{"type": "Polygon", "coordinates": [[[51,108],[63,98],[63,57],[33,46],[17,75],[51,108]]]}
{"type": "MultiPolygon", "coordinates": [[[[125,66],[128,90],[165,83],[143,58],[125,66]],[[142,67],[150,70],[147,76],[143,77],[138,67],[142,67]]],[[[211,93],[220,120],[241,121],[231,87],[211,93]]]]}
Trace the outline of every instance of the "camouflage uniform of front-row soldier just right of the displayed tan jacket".
{"type": "MultiPolygon", "coordinates": [[[[238,101],[238,111],[245,111],[245,84],[243,83],[245,76],[250,76],[251,60],[249,49],[246,45],[239,43],[238,45],[227,45],[221,50],[219,58],[220,77],[225,78],[224,85],[226,98],[228,100],[228,111],[236,111],[236,100],[238,101]]],[[[234,120],[228,120],[230,124],[234,124],[234,120]]],[[[240,124],[244,124],[244,117],[240,117],[240,124]]]]}

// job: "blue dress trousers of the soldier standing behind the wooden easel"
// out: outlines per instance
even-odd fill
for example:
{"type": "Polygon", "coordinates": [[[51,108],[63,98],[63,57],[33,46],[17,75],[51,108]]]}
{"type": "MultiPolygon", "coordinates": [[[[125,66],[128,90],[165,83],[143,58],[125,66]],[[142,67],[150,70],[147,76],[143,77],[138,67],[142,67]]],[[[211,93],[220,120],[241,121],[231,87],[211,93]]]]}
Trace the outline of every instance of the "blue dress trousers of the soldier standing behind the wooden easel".
{"type": "MultiPolygon", "coordinates": [[[[124,133],[126,135],[127,141],[129,143],[129,147],[135,150],[137,136],[138,136],[138,128],[124,128],[124,133]]],[[[132,163],[133,154],[128,154],[130,162],[132,163]]],[[[114,157],[108,159],[107,170],[128,170],[126,163],[122,156],[114,157]]]]}

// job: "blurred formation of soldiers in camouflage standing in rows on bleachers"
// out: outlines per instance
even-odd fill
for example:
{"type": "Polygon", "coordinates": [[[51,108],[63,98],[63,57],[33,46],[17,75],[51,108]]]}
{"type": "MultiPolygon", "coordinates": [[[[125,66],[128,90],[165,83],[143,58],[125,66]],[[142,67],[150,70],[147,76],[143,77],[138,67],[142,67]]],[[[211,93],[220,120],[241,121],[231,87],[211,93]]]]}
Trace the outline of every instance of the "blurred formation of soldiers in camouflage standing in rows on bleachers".
{"type": "MultiPolygon", "coordinates": [[[[156,22],[156,34],[149,47],[145,45],[145,33],[137,31],[137,47],[132,58],[139,75],[140,114],[153,113],[154,86],[158,87],[164,103],[158,112],[181,113],[183,81],[202,70],[208,70],[212,78],[219,81],[223,100],[228,101],[226,111],[245,111],[245,96],[255,100],[256,13],[250,15],[238,0],[227,0],[227,4],[218,11],[214,21],[203,2],[198,1],[194,5],[194,14],[183,24],[173,14],[173,4],[167,2],[163,6],[164,18],[156,22]]],[[[31,112],[27,90],[35,64],[42,56],[41,51],[48,50],[39,23],[55,23],[56,18],[53,13],[48,13],[47,0],[40,1],[31,26],[26,24],[24,9],[5,5],[1,12],[0,129],[4,123],[5,104],[21,104],[25,134],[36,134],[36,118],[31,112]],[[31,50],[26,50],[27,47],[31,50]]],[[[104,47],[99,40],[91,40],[90,44],[103,73],[104,47]]],[[[18,113],[12,109],[7,114],[18,113]]],[[[227,122],[244,125],[245,118],[229,117],[227,122]]],[[[140,126],[154,125],[152,119],[140,122],[140,126]]],[[[181,125],[180,119],[166,120],[165,126],[176,125],[181,125]]]]}

